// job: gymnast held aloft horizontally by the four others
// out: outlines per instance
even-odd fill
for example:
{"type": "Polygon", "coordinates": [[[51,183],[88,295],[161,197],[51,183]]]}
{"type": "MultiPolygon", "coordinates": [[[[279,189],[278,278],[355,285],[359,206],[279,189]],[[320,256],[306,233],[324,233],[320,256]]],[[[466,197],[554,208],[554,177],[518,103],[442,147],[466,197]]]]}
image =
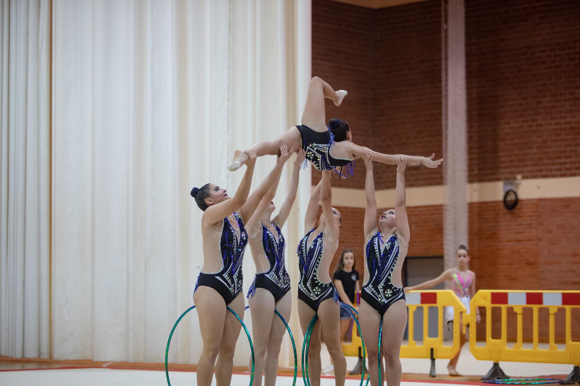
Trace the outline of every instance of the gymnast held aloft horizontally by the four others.
{"type": "MultiPolygon", "coordinates": [[[[306,151],[306,159],[316,169],[336,170],[339,173],[342,173],[340,167],[346,166],[356,158],[361,158],[369,151],[373,153],[375,161],[390,165],[396,165],[397,156],[404,156],[407,162],[422,163],[427,167],[437,167],[443,161],[443,159],[434,161],[434,154],[430,157],[389,155],[352,143],[349,124],[342,119],[332,118],[327,125],[324,107],[325,98],[331,99],[335,105],[339,106],[346,95],[345,90],[335,91],[322,79],[312,78],[302,112],[302,125],[293,126],[275,140],[262,141],[254,144],[251,148],[258,156],[279,155],[280,143],[284,142],[288,147],[294,147],[295,150],[303,148],[306,151]]],[[[231,171],[239,169],[244,165],[246,159],[247,155],[244,151],[236,150],[229,169],[231,171]]],[[[347,167],[345,172],[351,174],[352,167],[354,167],[354,163],[347,167]]]]}

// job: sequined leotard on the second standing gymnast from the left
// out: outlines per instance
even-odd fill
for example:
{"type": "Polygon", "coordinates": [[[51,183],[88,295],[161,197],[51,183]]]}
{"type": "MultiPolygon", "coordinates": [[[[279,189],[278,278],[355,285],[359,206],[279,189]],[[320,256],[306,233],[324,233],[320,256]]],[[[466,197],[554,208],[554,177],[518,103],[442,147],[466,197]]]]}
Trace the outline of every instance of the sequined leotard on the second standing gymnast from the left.
{"type": "Polygon", "coordinates": [[[278,302],[290,290],[290,276],[286,271],[284,257],[284,236],[278,225],[272,223],[278,234],[278,241],[270,230],[262,225],[261,237],[250,240],[252,255],[256,258],[266,258],[270,269],[267,272],[256,273],[252,286],[248,291],[248,298],[256,293],[256,288],[264,288],[274,296],[278,302]]]}

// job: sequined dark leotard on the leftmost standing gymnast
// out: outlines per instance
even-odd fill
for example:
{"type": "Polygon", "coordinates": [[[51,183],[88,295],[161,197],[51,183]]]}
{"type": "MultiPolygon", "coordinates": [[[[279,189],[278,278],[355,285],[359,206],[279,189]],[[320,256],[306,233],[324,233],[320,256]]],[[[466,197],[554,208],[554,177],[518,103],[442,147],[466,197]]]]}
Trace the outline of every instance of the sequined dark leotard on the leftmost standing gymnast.
{"type": "MultiPolygon", "coordinates": [[[[223,268],[218,273],[201,272],[197,277],[195,291],[199,286],[212,287],[222,295],[226,304],[230,304],[242,291],[242,260],[248,243],[248,235],[244,221],[234,212],[235,220],[240,228],[240,238],[235,233],[228,218],[222,220],[222,235],[219,242],[219,251],[223,260],[223,268]]],[[[219,226],[219,225],[218,225],[219,226]]]]}

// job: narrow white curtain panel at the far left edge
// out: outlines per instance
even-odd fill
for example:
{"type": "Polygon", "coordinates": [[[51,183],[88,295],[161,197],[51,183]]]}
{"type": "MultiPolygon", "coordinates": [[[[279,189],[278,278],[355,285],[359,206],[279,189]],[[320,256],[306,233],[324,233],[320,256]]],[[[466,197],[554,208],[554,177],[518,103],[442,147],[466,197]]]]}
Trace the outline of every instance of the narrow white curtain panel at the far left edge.
{"type": "Polygon", "coordinates": [[[0,2],[0,355],[48,358],[50,2],[0,2]]]}

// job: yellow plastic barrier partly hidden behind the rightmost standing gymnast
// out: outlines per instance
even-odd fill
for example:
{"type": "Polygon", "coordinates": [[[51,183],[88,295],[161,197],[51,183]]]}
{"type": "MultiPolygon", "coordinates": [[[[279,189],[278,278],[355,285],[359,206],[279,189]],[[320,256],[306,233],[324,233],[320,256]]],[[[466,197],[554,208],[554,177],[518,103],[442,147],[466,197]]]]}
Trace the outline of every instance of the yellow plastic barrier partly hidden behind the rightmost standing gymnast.
{"type": "MultiPolygon", "coordinates": [[[[402,358],[453,358],[459,351],[459,335],[461,334],[460,323],[454,323],[453,326],[453,344],[443,344],[443,315],[444,307],[454,307],[454,319],[460,320],[461,314],[467,312],[465,305],[451,290],[418,290],[409,291],[405,293],[407,308],[409,309],[409,340],[406,345],[401,346],[402,358]],[[417,344],[413,339],[414,336],[414,312],[417,308],[423,307],[423,343],[417,344]],[[437,337],[430,338],[429,331],[429,307],[437,307],[438,309],[438,333],[437,337]],[[433,356],[432,356],[433,349],[433,356]]],[[[360,302],[359,293],[356,296],[357,305],[360,302]]],[[[352,341],[350,343],[343,343],[342,351],[345,356],[358,356],[362,350],[361,338],[358,336],[357,326],[353,323],[351,330],[352,341]]],[[[368,342],[365,344],[369,344],[368,342]]],[[[377,343],[374,343],[377,344],[377,343]]]]}

